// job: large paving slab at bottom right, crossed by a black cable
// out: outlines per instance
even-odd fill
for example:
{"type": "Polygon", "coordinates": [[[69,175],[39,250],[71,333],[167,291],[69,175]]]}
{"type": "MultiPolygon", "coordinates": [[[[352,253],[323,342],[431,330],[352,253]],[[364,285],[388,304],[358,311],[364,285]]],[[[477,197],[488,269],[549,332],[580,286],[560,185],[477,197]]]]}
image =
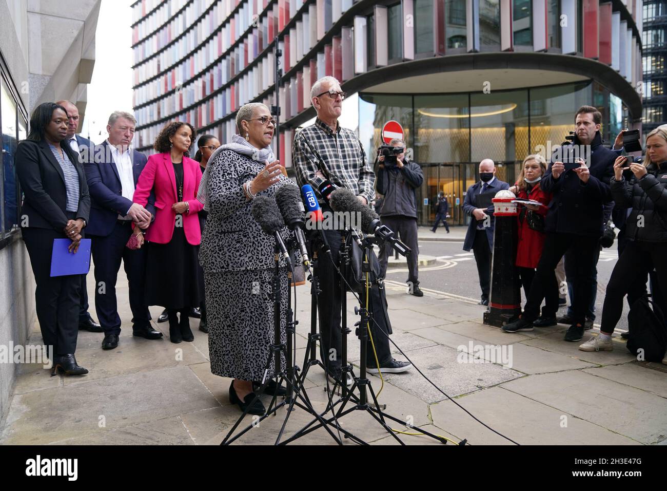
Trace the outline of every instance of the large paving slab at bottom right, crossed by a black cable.
{"type": "MultiPolygon", "coordinates": [[[[458,397],[456,402],[490,428],[522,445],[638,444],[570,413],[512,393],[504,385],[458,397]]],[[[433,424],[455,435],[457,440],[466,438],[472,445],[512,445],[452,401],[431,405],[431,414],[433,424]]]]}

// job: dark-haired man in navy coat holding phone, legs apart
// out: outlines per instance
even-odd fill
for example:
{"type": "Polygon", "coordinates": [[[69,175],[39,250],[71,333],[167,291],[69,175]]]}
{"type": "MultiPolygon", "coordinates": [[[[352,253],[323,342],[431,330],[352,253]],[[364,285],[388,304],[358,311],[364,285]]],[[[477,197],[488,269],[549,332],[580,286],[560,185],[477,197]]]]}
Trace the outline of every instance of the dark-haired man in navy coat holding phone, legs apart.
{"type": "Polygon", "coordinates": [[[592,271],[603,232],[604,205],[612,202],[608,182],[614,174],[612,163],[617,156],[616,152],[602,146],[601,122],[602,114],[596,108],[579,108],[575,115],[573,142],[591,146],[590,167],[584,160],[577,159],[568,162],[566,168],[563,162],[553,162],[552,158],[552,164],[542,178],[542,190],[553,194],[545,219],[544,249],[524,313],[517,321],[503,326],[506,332],[532,331],[533,321],[540,315],[545,285],[553,281],[554,269],[563,255],[572,251],[565,263],[566,268],[573,271],[572,278],[568,279],[573,284],[574,312],[565,341],[580,341],[584,335],[586,307],[590,305],[594,283],[592,271]]]}

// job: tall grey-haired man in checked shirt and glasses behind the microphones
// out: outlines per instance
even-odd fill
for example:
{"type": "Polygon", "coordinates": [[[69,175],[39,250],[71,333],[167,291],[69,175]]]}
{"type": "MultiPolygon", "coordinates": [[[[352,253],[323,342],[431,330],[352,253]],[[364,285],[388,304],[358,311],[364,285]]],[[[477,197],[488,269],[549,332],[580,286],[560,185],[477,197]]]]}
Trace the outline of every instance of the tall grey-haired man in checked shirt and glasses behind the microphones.
{"type": "MultiPolygon", "coordinates": [[[[315,123],[297,132],[293,144],[293,164],[299,186],[310,184],[319,196],[319,188],[329,180],[339,187],[354,192],[360,202],[369,204],[375,197],[375,174],[366,160],[366,152],[357,134],[341,128],[338,118],[342,112],[345,93],[340,83],[333,77],[322,77],[317,80],[310,91],[311,102],[317,119],[315,123]]],[[[319,196],[321,198],[321,196],[319,196]]],[[[331,208],[320,201],[323,211],[331,208]]],[[[338,251],[342,233],[340,230],[322,230],[331,248],[331,258],[338,265],[338,251]]],[[[341,294],[336,286],[338,273],[327,255],[319,251],[320,260],[317,265],[319,277],[319,328],[323,344],[327,373],[340,380],[342,344],[340,332],[341,294]]],[[[384,323],[380,322],[381,325],[384,323]]],[[[373,326],[372,326],[373,328],[373,326]]],[[[374,329],[375,333],[377,329],[374,329]]],[[[385,329],[387,331],[387,329],[385,329]]],[[[374,336],[376,352],[380,367],[376,367],[373,356],[368,359],[368,371],[377,373],[398,373],[410,369],[410,363],[396,361],[392,358],[387,335],[378,333],[374,336]]],[[[370,343],[368,343],[370,346],[370,343]]],[[[371,352],[372,353],[372,352],[371,352]]],[[[352,379],[348,378],[348,385],[352,379]]]]}

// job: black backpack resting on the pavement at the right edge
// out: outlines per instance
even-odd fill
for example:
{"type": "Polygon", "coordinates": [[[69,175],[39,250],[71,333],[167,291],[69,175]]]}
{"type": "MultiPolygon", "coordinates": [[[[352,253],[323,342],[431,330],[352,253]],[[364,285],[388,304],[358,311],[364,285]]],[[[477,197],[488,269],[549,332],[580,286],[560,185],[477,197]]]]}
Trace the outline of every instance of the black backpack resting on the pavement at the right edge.
{"type": "Polygon", "coordinates": [[[630,307],[626,346],[633,355],[643,353],[644,361],[662,361],[667,349],[667,325],[660,307],[647,297],[637,299],[630,307]]]}

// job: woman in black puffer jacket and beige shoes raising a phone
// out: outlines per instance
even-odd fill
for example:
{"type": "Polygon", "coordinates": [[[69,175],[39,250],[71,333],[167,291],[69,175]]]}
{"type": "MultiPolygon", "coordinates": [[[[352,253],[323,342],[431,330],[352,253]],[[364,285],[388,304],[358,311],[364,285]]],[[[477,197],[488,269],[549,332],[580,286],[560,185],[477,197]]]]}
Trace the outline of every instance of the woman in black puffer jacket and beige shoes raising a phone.
{"type": "MultiPolygon", "coordinates": [[[[626,221],[628,244],[607,285],[600,335],[580,345],[582,351],[612,351],[612,333],[623,311],[623,297],[638,277],[645,279],[655,267],[660,291],[667,291],[667,125],[646,136],[644,165],[620,156],[610,182],[614,200],[632,207],[626,221]],[[628,166],[633,175],[626,180],[628,166]]],[[[667,312],[664,297],[657,295],[654,301],[667,312]]],[[[662,363],[667,364],[667,357],[662,363]]]]}

